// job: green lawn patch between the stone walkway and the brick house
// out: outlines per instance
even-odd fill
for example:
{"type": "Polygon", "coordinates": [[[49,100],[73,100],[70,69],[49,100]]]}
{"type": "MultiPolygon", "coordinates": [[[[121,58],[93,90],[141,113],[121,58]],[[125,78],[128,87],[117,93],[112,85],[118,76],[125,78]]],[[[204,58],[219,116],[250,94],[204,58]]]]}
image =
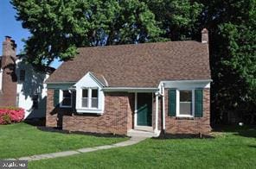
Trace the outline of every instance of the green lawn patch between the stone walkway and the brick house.
{"type": "Polygon", "coordinates": [[[0,125],[0,159],[94,147],[124,140],[127,138],[42,131],[23,122],[0,125]]]}

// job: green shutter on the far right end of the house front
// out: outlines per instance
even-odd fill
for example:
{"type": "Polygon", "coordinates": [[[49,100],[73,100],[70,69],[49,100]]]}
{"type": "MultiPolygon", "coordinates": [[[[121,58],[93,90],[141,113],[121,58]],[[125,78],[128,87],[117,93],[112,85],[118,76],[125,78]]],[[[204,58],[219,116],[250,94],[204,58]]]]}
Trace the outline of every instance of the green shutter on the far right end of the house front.
{"type": "Polygon", "coordinates": [[[195,117],[202,117],[202,89],[195,90],[195,117]]]}

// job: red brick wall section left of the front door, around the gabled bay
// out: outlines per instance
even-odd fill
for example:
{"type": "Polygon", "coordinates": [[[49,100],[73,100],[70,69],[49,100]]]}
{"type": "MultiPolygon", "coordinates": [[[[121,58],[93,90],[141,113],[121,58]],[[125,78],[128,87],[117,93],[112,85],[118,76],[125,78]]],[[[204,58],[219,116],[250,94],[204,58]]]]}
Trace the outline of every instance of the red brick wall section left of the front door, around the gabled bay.
{"type": "Polygon", "coordinates": [[[133,97],[133,94],[125,92],[105,93],[103,115],[78,115],[75,110],[55,109],[53,103],[54,91],[48,90],[46,125],[48,127],[56,127],[63,116],[63,119],[61,119],[63,121],[62,129],[65,130],[126,135],[127,130],[132,128],[133,97]],[[74,115],[67,116],[71,112],[74,115]]]}

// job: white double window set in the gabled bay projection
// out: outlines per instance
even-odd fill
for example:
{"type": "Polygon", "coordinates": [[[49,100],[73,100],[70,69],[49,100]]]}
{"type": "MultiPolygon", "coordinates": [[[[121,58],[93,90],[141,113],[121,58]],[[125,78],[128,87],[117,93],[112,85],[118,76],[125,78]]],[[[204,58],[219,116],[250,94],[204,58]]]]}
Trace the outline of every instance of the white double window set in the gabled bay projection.
{"type": "Polygon", "coordinates": [[[81,107],[85,109],[98,109],[99,89],[83,88],[81,97],[81,107]]]}

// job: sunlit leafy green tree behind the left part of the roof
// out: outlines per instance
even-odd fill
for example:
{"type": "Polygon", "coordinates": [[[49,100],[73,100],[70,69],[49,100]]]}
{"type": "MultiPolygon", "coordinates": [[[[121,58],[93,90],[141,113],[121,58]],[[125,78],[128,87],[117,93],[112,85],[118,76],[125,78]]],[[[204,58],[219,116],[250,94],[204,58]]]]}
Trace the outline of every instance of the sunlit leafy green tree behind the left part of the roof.
{"type": "Polygon", "coordinates": [[[25,51],[34,66],[74,57],[77,47],[154,41],[154,14],[138,0],[12,0],[32,34],[25,51]]]}

